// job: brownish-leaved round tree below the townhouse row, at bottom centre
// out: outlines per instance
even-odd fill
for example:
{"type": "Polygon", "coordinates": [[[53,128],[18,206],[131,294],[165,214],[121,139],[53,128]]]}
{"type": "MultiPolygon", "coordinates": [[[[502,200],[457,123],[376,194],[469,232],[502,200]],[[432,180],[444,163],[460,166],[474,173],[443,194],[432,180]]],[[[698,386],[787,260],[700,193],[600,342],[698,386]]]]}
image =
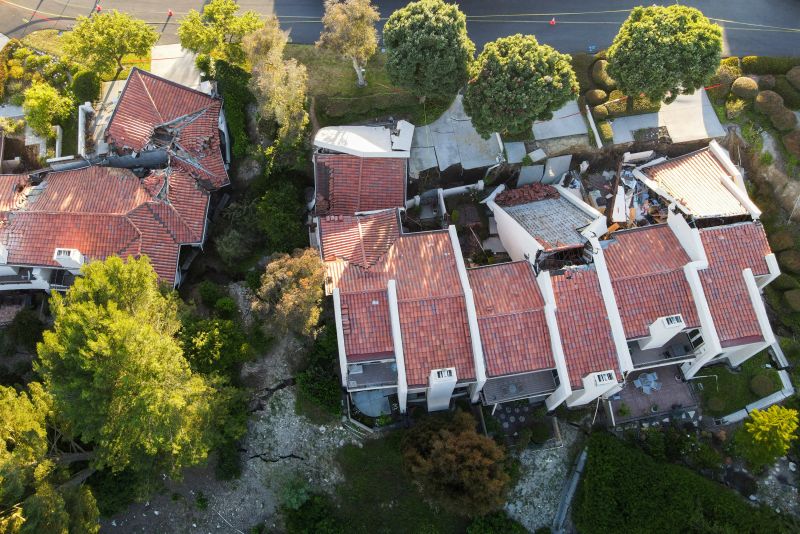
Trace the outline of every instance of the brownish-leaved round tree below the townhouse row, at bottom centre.
{"type": "Polygon", "coordinates": [[[426,418],[403,439],[403,456],[411,474],[455,513],[479,516],[505,502],[510,477],[505,453],[479,434],[468,413],[426,418]]]}

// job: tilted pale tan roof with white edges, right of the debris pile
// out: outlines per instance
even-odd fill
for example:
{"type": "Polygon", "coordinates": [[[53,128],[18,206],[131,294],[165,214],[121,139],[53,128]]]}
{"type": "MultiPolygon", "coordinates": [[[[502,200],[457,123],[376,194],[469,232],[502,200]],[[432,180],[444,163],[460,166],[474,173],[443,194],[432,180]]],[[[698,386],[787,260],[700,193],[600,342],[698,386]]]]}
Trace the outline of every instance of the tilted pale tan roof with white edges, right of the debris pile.
{"type": "Polygon", "coordinates": [[[742,176],[728,153],[712,141],[708,147],[634,170],[647,187],[698,218],[735,217],[761,212],[744,190],[742,176]]]}

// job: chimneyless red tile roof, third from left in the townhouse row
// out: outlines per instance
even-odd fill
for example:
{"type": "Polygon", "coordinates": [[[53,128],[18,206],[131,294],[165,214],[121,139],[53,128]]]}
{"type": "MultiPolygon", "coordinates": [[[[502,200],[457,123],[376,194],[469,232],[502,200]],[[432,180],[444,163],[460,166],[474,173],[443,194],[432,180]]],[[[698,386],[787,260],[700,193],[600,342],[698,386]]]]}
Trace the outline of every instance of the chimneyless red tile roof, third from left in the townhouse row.
{"type": "Polygon", "coordinates": [[[544,299],[530,263],[501,263],[467,275],[487,376],[555,368],[544,299]]]}

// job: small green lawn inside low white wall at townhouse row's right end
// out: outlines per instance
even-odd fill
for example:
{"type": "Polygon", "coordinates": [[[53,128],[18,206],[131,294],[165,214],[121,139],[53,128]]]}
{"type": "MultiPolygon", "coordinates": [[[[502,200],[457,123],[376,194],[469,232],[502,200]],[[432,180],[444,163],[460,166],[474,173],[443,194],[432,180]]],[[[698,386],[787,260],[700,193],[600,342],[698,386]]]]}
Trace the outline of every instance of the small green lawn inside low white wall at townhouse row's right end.
{"type": "Polygon", "coordinates": [[[714,378],[696,380],[703,384],[703,391],[700,393],[703,410],[708,414],[721,416],[741,410],[751,402],[757,401],[761,396],[750,390],[750,381],[757,375],[766,375],[772,380],[774,389],[770,393],[779,391],[781,381],[778,372],[774,369],[765,369],[766,363],[769,363],[769,357],[766,352],[762,352],[744,362],[738,373],[732,373],[724,364],[704,368],[700,374],[716,375],[719,391],[714,378]]]}

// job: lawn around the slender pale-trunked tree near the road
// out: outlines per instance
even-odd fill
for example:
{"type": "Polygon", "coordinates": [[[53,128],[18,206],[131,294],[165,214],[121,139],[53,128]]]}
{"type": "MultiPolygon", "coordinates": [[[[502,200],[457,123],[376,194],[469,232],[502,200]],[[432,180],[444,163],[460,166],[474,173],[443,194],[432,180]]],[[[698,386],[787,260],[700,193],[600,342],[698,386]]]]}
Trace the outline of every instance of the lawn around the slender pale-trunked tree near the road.
{"type": "Polygon", "coordinates": [[[315,99],[321,126],[389,116],[421,126],[436,120],[451,102],[451,99],[428,99],[421,104],[405,89],[392,85],[386,74],[385,54],[375,54],[367,64],[366,87],[356,86],[352,63],[336,54],[312,45],[290,44],[286,55],[308,69],[308,94],[315,99]]]}

